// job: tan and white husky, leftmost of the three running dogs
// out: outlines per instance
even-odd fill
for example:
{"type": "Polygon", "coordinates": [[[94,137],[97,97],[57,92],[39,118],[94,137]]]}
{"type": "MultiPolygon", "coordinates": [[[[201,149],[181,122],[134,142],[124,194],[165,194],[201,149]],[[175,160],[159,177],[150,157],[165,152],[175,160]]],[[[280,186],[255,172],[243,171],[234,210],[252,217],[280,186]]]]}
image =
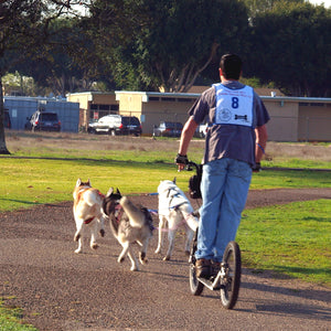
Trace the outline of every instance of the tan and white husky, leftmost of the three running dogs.
{"type": "Polygon", "coordinates": [[[103,213],[104,195],[97,190],[92,188],[89,179],[87,182],[77,180],[73,193],[74,196],[74,218],[76,223],[76,233],[74,241],[78,242],[78,248],[75,253],[83,252],[83,233],[85,227],[90,229],[89,246],[93,249],[98,248],[96,243],[98,227],[100,236],[105,235],[105,214],[103,213]]]}

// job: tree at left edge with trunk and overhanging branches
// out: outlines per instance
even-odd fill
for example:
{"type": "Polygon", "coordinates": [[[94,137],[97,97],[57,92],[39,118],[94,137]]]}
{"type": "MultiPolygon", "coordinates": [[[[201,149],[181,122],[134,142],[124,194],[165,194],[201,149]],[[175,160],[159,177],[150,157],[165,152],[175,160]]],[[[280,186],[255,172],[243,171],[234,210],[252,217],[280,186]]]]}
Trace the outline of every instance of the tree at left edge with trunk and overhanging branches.
{"type": "MultiPolygon", "coordinates": [[[[81,1],[86,2],[86,1],[81,1]]],[[[2,77],[26,56],[45,56],[53,20],[70,14],[71,0],[6,0],[0,4],[0,153],[10,153],[3,128],[2,77]]],[[[75,14],[72,12],[72,14],[75,14]]]]}

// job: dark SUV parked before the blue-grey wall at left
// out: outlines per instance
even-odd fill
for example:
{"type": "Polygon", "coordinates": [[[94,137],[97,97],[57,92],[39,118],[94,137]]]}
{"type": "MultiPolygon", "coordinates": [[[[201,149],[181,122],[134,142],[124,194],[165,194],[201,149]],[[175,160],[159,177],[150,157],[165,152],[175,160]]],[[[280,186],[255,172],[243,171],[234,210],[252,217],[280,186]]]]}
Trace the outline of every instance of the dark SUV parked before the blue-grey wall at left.
{"type": "Polygon", "coordinates": [[[31,131],[61,131],[61,121],[56,113],[35,111],[31,117],[26,117],[25,130],[31,131]]]}

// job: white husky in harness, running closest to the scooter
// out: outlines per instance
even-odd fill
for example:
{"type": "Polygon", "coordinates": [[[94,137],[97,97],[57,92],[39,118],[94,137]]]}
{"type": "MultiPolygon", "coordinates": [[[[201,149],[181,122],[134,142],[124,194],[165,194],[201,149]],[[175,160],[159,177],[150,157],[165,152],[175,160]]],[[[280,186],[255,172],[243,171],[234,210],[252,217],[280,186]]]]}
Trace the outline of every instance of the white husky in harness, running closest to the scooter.
{"type": "Polygon", "coordinates": [[[163,260],[170,260],[178,227],[183,223],[186,232],[184,250],[190,255],[190,247],[194,232],[197,228],[197,217],[193,207],[181,189],[173,181],[160,181],[159,194],[159,243],[156,254],[161,253],[163,246],[163,231],[168,231],[169,248],[163,260]],[[168,228],[166,228],[168,225],[168,228]]]}

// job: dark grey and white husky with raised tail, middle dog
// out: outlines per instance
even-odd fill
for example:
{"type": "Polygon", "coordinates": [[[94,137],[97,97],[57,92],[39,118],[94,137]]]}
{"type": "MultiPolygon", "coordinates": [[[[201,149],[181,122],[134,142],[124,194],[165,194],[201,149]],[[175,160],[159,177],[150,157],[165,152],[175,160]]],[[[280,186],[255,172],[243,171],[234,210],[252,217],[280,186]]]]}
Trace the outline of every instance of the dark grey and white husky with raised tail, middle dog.
{"type": "Polygon", "coordinates": [[[137,207],[127,196],[121,196],[120,192],[114,192],[110,188],[104,203],[104,213],[109,217],[110,229],[122,246],[122,250],[117,261],[122,263],[128,255],[131,261],[131,271],[139,270],[139,264],[135,257],[131,244],[138,243],[141,246],[139,261],[148,263],[146,257],[149,239],[152,236],[152,217],[146,207],[137,207]]]}

